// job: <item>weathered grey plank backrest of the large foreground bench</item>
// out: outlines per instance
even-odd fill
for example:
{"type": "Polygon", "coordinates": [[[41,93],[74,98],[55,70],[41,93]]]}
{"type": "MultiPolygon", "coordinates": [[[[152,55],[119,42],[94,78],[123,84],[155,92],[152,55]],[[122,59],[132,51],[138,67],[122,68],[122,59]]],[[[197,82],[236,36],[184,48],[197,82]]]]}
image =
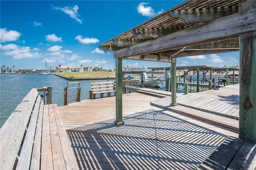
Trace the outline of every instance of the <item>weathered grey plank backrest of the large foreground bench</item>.
{"type": "Polygon", "coordinates": [[[33,88],[1,127],[0,169],[39,169],[43,107],[33,88]]]}

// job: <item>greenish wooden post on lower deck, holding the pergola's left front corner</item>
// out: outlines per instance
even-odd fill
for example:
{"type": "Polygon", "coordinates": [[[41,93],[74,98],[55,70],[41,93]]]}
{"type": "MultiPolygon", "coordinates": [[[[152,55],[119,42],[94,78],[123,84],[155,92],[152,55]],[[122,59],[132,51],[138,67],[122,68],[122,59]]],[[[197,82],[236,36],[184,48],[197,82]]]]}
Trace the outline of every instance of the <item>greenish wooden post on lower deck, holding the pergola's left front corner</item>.
{"type": "Polygon", "coordinates": [[[119,127],[124,125],[122,121],[122,59],[116,59],[116,121],[119,127]]]}

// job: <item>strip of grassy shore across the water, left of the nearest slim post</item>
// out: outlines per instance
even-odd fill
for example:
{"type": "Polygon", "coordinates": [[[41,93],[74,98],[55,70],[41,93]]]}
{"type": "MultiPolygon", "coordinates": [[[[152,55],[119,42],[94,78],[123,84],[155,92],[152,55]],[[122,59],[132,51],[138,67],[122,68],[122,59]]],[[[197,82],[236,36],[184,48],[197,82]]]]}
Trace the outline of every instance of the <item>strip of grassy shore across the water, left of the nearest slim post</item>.
{"type": "Polygon", "coordinates": [[[54,72],[53,74],[68,79],[94,79],[116,77],[116,72],[54,72]]]}

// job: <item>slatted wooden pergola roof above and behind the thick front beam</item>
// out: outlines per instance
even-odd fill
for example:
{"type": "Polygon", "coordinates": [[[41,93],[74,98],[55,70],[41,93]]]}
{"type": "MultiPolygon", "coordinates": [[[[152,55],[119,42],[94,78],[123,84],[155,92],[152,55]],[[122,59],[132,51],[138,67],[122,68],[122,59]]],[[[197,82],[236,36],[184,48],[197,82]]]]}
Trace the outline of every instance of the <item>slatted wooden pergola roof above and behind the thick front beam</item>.
{"type": "Polygon", "coordinates": [[[180,45],[178,48],[164,48],[158,49],[156,52],[138,52],[137,54],[126,55],[129,48],[141,48],[136,47],[136,45],[142,44],[145,41],[149,42],[149,40],[158,39],[164,35],[174,34],[182,30],[183,32],[184,30],[191,30],[191,28],[197,28],[210,21],[237,14],[238,4],[244,1],[246,0],[187,0],[102,43],[99,48],[104,51],[127,49],[121,55],[116,53],[114,58],[162,62],[170,62],[170,56],[187,57],[239,51],[239,38],[237,34],[213,41],[180,45]]]}

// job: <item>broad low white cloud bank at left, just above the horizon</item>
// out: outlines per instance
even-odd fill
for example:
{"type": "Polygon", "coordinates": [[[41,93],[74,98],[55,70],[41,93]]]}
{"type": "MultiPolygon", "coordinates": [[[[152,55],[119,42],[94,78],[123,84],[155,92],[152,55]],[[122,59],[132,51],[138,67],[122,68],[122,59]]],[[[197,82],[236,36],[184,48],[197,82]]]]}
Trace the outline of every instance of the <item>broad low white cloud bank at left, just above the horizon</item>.
{"type": "Polygon", "coordinates": [[[12,56],[14,59],[38,58],[41,54],[34,53],[30,47],[20,47],[16,44],[1,45],[1,49],[5,52],[2,55],[12,56]]]}

